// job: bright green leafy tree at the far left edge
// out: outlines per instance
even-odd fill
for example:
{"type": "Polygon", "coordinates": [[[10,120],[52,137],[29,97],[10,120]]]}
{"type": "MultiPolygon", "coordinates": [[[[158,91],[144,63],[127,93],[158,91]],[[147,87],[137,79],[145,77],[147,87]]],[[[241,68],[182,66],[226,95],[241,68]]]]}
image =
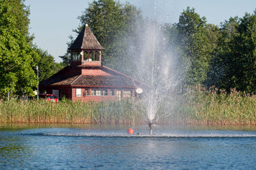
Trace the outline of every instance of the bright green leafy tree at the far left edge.
{"type": "Polygon", "coordinates": [[[0,92],[2,95],[9,92],[32,94],[33,88],[37,85],[33,59],[38,55],[29,45],[29,34],[26,32],[28,25],[22,22],[26,15],[22,1],[1,0],[0,92]]]}

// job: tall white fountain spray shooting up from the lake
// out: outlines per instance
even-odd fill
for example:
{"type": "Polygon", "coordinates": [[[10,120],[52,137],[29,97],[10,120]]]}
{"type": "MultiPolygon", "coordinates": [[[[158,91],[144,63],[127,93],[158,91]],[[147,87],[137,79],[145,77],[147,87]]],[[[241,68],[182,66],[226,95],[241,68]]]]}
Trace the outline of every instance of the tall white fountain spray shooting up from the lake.
{"type": "MultiPolygon", "coordinates": [[[[149,134],[159,118],[168,117],[172,110],[172,94],[179,84],[177,75],[176,56],[173,46],[163,33],[163,25],[156,21],[156,0],[154,1],[154,20],[141,26],[139,31],[140,49],[139,59],[136,59],[138,80],[148,85],[140,99],[134,103],[133,109],[140,113],[148,122],[149,134]],[[161,111],[160,111],[161,108],[161,111]]],[[[132,54],[132,56],[138,56],[132,54]]]]}

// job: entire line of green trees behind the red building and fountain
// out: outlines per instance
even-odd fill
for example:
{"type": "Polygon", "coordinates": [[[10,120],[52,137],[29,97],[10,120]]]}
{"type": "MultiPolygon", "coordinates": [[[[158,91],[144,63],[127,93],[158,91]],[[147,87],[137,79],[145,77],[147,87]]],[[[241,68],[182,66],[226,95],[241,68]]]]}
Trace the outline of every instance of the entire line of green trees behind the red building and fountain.
{"type": "MultiPolygon", "coordinates": [[[[0,96],[33,94],[36,66],[41,81],[70,61],[68,51],[58,64],[51,54],[33,44],[28,16],[24,0],[0,0],[0,96]]],[[[214,25],[188,7],[180,13],[179,22],[161,24],[143,18],[132,4],[95,0],[78,18],[81,22],[75,31],[88,24],[105,48],[103,64],[122,73],[136,77],[140,72],[136,59],[145,50],[141,48],[141,34],[150,27],[148,23],[153,23],[157,31],[164,32],[164,45],[159,43],[156,55],[172,51],[180,84],[256,92],[256,11],[214,25]]],[[[68,45],[73,41],[70,37],[68,45]]]]}

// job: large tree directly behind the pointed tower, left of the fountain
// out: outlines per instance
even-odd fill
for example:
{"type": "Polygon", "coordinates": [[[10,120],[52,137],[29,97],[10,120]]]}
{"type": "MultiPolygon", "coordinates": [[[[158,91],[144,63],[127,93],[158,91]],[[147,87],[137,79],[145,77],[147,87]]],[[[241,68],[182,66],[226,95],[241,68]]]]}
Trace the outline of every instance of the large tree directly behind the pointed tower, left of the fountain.
{"type": "MultiPolygon", "coordinates": [[[[128,55],[128,42],[136,39],[136,26],[141,17],[141,11],[129,3],[121,4],[114,0],[98,0],[89,4],[82,15],[78,17],[81,24],[75,30],[77,33],[88,24],[99,43],[105,48],[102,50],[102,62],[123,73],[127,73],[132,66],[128,55]]],[[[70,45],[73,41],[71,38],[70,45]]],[[[68,62],[70,55],[61,56],[68,62]]],[[[130,69],[131,70],[131,69],[130,69]]]]}

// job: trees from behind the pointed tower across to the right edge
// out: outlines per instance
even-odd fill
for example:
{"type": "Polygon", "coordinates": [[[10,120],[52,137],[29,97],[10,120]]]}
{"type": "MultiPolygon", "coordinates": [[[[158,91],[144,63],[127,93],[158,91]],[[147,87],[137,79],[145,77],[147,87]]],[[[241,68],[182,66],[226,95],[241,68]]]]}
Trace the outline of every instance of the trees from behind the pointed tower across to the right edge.
{"type": "MultiPolygon", "coordinates": [[[[143,18],[132,4],[97,0],[78,18],[81,24],[75,31],[78,33],[88,24],[105,48],[103,64],[122,73],[138,73],[134,59],[141,53],[140,34],[148,23],[156,22],[154,25],[168,39],[164,46],[175,53],[177,70],[183,71],[181,84],[256,92],[256,11],[214,25],[188,7],[180,13],[179,22],[161,24],[143,18]]],[[[71,37],[68,44],[72,41],[71,37]]],[[[61,58],[68,64],[70,54],[67,52],[61,58]]]]}

